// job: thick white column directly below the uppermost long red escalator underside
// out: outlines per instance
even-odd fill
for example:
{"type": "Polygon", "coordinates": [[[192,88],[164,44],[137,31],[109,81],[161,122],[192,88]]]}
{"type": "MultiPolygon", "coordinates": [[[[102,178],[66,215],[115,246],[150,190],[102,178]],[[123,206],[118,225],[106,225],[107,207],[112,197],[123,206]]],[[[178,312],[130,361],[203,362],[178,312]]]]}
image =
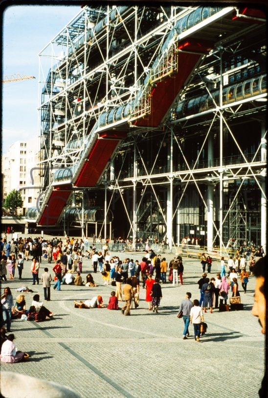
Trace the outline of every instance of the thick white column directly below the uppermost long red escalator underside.
{"type": "Polygon", "coordinates": [[[173,127],[171,127],[170,134],[170,154],[168,155],[168,167],[170,170],[170,184],[167,187],[167,239],[169,249],[172,250],[173,234],[173,127]]]}

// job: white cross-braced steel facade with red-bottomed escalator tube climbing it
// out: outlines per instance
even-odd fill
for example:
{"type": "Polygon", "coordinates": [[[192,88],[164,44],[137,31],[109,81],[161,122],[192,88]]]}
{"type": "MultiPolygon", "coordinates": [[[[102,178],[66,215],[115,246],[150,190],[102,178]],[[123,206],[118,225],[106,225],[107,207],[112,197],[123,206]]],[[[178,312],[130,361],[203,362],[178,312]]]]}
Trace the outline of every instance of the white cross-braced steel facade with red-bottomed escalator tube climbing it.
{"type": "Polygon", "coordinates": [[[265,33],[258,9],[84,7],[39,54],[41,210],[82,190],[110,238],[266,249],[265,33]]]}

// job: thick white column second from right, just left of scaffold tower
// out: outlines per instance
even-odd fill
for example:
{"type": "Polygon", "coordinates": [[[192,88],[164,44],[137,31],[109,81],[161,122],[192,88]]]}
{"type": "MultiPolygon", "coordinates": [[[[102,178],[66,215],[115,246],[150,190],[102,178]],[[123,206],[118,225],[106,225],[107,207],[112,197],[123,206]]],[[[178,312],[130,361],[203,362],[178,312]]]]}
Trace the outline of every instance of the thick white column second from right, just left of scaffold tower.
{"type": "MultiPolygon", "coordinates": [[[[207,161],[208,167],[211,167],[210,161],[213,159],[213,138],[212,134],[209,135],[207,141],[207,161]]],[[[213,183],[207,185],[207,249],[213,248],[213,183]]]]}

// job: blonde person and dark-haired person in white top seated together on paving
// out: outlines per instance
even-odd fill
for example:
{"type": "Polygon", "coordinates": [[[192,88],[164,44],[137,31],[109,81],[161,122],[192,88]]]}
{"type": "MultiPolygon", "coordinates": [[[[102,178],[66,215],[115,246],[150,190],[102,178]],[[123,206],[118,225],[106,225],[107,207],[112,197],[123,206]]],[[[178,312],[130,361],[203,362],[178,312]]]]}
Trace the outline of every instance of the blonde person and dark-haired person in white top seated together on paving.
{"type": "Polygon", "coordinates": [[[43,301],[40,301],[38,294],[34,295],[32,305],[28,310],[26,310],[25,296],[19,295],[17,297],[12,318],[21,319],[22,315],[27,317],[27,321],[35,322],[42,322],[46,318],[51,319],[53,317],[52,312],[43,305],[43,301]]]}

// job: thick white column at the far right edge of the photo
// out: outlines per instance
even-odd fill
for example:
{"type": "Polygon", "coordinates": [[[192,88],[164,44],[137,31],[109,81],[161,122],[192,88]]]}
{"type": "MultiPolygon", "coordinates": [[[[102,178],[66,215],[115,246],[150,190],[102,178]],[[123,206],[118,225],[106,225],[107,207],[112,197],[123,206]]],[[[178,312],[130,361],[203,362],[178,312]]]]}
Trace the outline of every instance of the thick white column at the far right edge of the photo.
{"type": "MultiPolygon", "coordinates": [[[[267,162],[267,139],[266,139],[266,125],[262,123],[262,138],[261,138],[261,160],[267,162]]],[[[266,171],[266,169],[265,169],[266,171]]],[[[266,173],[261,182],[261,245],[266,254],[267,242],[267,198],[266,198],[266,173]]]]}

